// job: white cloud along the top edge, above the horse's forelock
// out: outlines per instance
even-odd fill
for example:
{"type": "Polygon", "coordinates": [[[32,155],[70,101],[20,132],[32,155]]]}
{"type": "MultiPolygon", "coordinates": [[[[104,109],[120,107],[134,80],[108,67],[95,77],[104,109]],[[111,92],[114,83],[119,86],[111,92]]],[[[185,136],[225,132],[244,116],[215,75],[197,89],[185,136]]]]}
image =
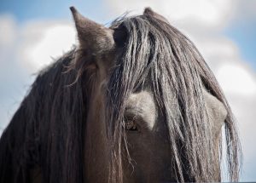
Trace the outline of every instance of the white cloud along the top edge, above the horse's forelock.
{"type": "Polygon", "coordinates": [[[165,15],[172,22],[189,20],[205,26],[219,26],[230,19],[236,1],[232,0],[108,0],[110,12],[123,14],[126,10],[141,13],[145,7],[151,7],[165,15]]]}

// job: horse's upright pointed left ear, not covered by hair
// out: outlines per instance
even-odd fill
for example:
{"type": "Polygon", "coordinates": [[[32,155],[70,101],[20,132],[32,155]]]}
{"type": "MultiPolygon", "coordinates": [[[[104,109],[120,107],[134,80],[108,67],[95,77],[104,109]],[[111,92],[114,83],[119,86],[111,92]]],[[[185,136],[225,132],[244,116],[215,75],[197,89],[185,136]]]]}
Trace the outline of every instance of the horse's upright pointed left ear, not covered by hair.
{"type": "Polygon", "coordinates": [[[82,49],[92,52],[104,52],[113,48],[113,30],[85,18],[77,9],[71,7],[79,43],[82,49]]]}

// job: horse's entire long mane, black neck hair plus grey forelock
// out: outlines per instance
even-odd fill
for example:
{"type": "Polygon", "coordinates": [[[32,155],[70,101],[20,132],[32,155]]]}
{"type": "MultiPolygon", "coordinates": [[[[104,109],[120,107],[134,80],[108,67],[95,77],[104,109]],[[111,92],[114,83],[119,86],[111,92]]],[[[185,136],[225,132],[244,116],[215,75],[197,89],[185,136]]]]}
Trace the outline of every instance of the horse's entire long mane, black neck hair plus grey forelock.
{"type": "MultiPolygon", "coordinates": [[[[112,155],[109,180],[122,181],[125,101],[148,81],[166,117],[175,179],[213,180],[214,146],[202,94],[205,87],[228,112],[224,123],[227,163],[230,180],[238,180],[240,144],[235,120],[216,78],[194,44],[165,21],[148,15],[120,18],[113,21],[111,28],[125,31],[126,39],[106,93],[112,155]]],[[[37,167],[42,169],[43,182],[86,180],[81,162],[91,86],[84,66],[67,71],[75,54],[73,49],[40,72],[3,132],[0,182],[27,182],[31,170],[37,167]]],[[[220,138],[220,148],[221,144],[220,138]]]]}

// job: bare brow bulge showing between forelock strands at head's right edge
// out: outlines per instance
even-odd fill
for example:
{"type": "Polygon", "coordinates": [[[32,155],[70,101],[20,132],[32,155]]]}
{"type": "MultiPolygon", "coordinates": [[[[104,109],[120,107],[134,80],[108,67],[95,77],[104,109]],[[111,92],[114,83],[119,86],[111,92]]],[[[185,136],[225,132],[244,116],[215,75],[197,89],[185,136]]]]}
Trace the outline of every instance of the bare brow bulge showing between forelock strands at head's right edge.
{"type": "Polygon", "coordinates": [[[203,89],[203,94],[206,100],[208,117],[210,123],[212,123],[212,132],[214,135],[218,135],[224,124],[224,120],[227,117],[227,110],[225,109],[224,104],[215,96],[208,93],[206,89],[203,89]]]}

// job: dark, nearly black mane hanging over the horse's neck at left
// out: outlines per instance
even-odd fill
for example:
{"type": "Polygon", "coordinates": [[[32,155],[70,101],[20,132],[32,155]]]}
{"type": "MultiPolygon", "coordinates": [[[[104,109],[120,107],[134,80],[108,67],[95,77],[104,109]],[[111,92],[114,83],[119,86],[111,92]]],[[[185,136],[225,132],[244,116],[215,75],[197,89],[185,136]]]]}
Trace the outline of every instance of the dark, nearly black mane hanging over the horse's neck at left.
{"type": "MultiPolygon", "coordinates": [[[[75,51],[41,71],[0,140],[0,182],[83,182],[86,84],[67,72],[75,51]],[[70,85],[73,83],[72,85],[70,85]]],[[[86,81],[86,80],[85,80],[86,81]]]]}

